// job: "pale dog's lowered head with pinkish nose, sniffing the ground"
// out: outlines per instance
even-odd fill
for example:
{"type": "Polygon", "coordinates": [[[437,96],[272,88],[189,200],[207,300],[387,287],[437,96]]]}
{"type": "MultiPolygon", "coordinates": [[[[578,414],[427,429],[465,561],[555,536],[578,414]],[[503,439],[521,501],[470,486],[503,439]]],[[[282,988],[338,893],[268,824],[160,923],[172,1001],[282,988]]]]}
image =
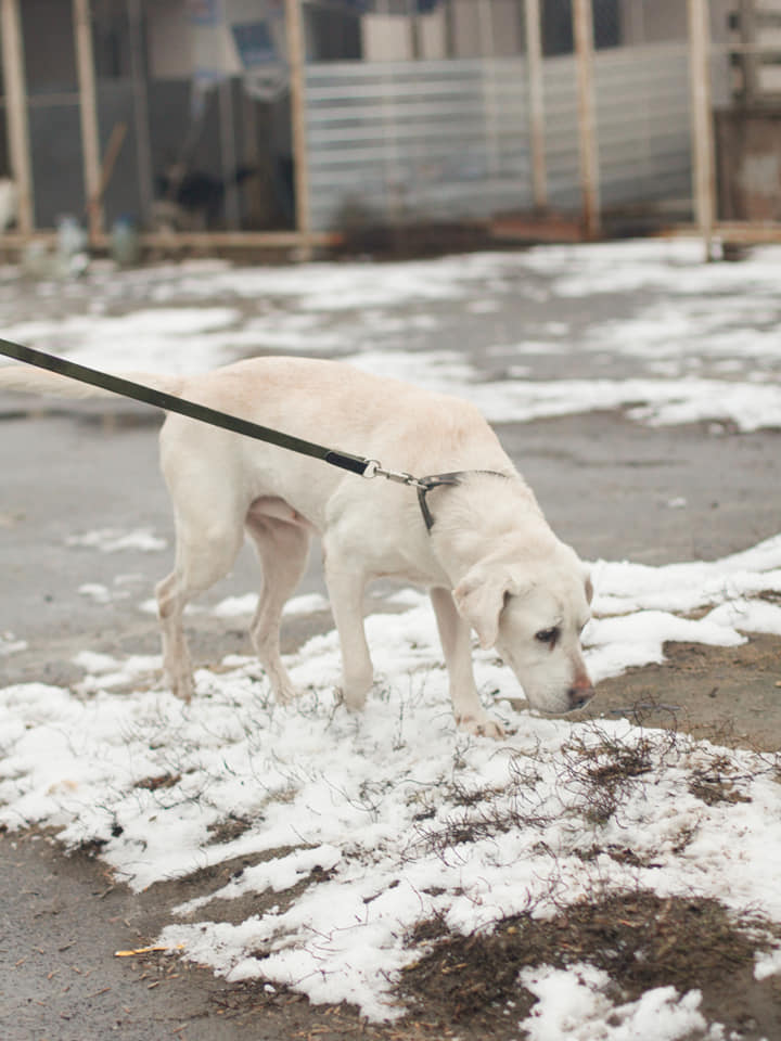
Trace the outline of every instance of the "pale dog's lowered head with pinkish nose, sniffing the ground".
{"type": "Polygon", "coordinates": [[[591,581],[569,547],[529,558],[504,550],[475,564],[453,591],[483,647],[496,647],[533,708],[581,708],[593,686],[580,634],[591,617],[591,581]]]}

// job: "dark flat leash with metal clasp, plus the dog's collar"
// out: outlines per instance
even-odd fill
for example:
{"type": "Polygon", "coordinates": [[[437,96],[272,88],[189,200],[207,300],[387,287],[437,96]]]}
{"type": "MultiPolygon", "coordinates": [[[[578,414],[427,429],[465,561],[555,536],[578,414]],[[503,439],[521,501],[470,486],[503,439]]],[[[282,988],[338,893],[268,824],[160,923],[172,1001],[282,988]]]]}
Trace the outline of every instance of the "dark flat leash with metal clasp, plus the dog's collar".
{"type": "Polygon", "coordinates": [[[261,426],[259,423],[242,420],[238,415],[230,415],[228,412],[220,412],[205,404],[196,404],[194,401],[188,401],[185,398],[168,394],[166,390],[155,390],[142,383],[125,380],[121,376],[113,376],[107,372],[101,372],[99,369],[90,369],[87,365],[77,364],[75,361],[67,361],[65,358],[57,358],[55,355],[48,355],[46,351],[37,350],[34,347],[24,347],[22,344],[15,344],[1,337],[0,355],[5,355],[37,369],[47,369],[49,372],[55,372],[68,380],[77,380],[79,383],[87,383],[90,386],[100,387],[102,390],[111,390],[112,394],[118,394],[121,397],[131,398],[157,409],[165,409],[166,412],[178,412],[180,415],[188,416],[188,419],[208,423],[210,426],[219,426],[222,429],[231,430],[233,434],[254,437],[256,440],[267,441],[270,445],[277,445],[279,448],[285,448],[302,455],[311,455],[313,459],[320,459],[331,466],[338,466],[341,470],[359,474],[368,479],[385,477],[387,480],[409,485],[418,490],[418,501],[428,531],[434,526],[434,517],[425,500],[426,492],[440,485],[459,484],[459,474],[413,477],[412,474],[384,470],[376,459],[366,459],[361,455],[353,455],[349,452],[335,451],[332,448],[316,445],[313,441],[307,441],[300,437],[293,437],[291,434],[283,434],[281,430],[261,426]]]}

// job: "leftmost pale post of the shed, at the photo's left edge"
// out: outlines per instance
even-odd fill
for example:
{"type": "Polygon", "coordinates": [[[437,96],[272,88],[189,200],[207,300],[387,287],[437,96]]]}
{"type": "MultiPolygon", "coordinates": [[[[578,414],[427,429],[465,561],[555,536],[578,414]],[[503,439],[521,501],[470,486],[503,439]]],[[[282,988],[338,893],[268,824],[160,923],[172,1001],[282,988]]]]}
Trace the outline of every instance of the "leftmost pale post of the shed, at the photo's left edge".
{"type": "Polygon", "coordinates": [[[33,163],[27,123],[27,88],[24,68],[24,42],[20,0],[2,0],[0,7],[2,36],[3,90],[8,118],[11,176],[16,184],[16,227],[29,235],[35,227],[33,209],[33,163]]]}

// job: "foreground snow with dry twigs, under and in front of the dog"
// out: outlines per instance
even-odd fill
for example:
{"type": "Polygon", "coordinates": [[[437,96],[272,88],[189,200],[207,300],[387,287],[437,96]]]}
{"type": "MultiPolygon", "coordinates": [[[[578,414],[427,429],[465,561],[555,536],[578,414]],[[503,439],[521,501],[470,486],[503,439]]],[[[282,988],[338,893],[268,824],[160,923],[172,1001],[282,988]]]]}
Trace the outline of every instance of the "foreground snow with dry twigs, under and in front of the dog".
{"type": "MultiPolygon", "coordinates": [[[[601,562],[593,574],[586,644],[596,680],[661,660],[666,640],[730,645],[757,628],[781,633],[781,536],[719,562],[601,562]]],[[[158,658],[87,651],[76,692],[0,690],[0,824],[97,843],[136,889],[255,857],[227,885],[204,882],[174,908],[161,942],[232,980],[344,999],[374,1018],[400,1013],[392,985],[419,956],[405,937],[436,914],[470,933],[628,887],[714,897],[737,914],[760,908],[781,923],[777,759],[626,721],[520,711],[508,701],[517,685],[490,652],[475,652],[478,684],[511,736],[469,738],[453,727],[431,608],[412,591],[392,599],[406,609],[368,619],[379,681],[361,716],[337,703],[333,632],[289,656],[303,694],[285,708],[254,660],[238,656],[197,672],[191,705],[151,682],[158,658]],[[616,755],[643,767],[594,788],[590,767],[616,755]],[[692,779],[716,762],[739,800],[696,793],[692,779]],[[221,837],[226,821],[240,826],[221,837]],[[616,846],[632,850],[632,863],[610,856],[616,846]]],[[[758,975],[779,968],[777,953],[757,960],[758,975]]],[[[597,1025],[599,1036],[629,1038],[652,1016],[654,1036],[675,1041],[705,1023],[694,991],[620,1004],[590,966],[529,973],[522,982],[542,999],[524,1024],[533,1038],[593,1037],[597,1025]],[[552,991],[567,993],[566,1008],[545,1000],[552,991]]]]}

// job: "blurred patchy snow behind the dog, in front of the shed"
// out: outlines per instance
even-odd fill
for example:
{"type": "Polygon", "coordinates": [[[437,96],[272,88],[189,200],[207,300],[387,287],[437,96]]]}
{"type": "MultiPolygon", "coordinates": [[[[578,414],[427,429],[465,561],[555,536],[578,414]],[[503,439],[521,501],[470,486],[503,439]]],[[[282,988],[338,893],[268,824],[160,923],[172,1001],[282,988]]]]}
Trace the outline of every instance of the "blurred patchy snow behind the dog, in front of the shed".
{"type": "MultiPolygon", "coordinates": [[[[756,249],[741,264],[701,260],[697,242],[651,240],[382,265],[98,268],[85,283],[40,290],[69,293],[73,306],[88,299],[78,313],[30,321],[20,312],[4,335],[115,370],[194,372],[257,352],[337,355],[470,398],[491,422],[629,408],[648,423],[781,426],[781,249],[756,249]],[[632,294],[640,299],[627,308],[632,294]],[[580,317],[576,325],[573,301],[596,307],[603,298],[604,314],[585,331],[580,317]],[[508,300],[517,322],[484,329],[470,349],[470,318],[489,323],[508,300]],[[430,351],[432,330],[459,314],[452,348],[430,351]],[[540,375],[540,359],[564,351],[593,370],[587,378],[540,375]],[[641,375],[605,376],[622,359],[641,375]]],[[[0,283],[0,303],[17,313],[13,283],[0,283]]]]}

